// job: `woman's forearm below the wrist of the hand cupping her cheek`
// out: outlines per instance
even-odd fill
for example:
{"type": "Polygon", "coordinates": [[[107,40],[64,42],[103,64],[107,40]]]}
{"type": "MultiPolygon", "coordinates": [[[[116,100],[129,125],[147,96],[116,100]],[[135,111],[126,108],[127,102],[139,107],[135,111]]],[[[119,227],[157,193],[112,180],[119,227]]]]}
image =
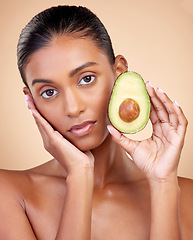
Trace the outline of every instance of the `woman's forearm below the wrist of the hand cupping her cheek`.
{"type": "Polygon", "coordinates": [[[89,169],[67,178],[67,192],[56,240],[90,240],[93,173],[89,169]]]}

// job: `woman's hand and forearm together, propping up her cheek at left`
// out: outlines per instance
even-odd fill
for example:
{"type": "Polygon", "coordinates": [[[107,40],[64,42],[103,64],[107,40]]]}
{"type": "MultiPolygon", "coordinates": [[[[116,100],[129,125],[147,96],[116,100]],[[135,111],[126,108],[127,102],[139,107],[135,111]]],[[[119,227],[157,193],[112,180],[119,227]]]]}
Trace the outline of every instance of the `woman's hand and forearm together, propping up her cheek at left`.
{"type": "Polygon", "coordinates": [[[56,240],[90,240],[94,157],[91,152],[81,152],[55,131],[36,110],[30,96],[27,103],[45,149],[67,172],[66,195],[56,240]]]}

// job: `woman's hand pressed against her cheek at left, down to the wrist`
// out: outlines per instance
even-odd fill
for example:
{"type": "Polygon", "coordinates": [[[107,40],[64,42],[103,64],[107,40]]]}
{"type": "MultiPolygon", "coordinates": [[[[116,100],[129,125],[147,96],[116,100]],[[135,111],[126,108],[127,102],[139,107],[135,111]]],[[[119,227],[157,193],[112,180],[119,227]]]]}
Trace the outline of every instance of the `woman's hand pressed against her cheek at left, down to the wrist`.
{"type": "Polygon", "coordinates": [[[67,141],[40,115],[33,98],[29,94],[26,94],[25,98],[42,136],[45,149],[65,168],[67,174],[78,173],[81,169],[93,170],[94,157],[92,153],[89,151],[83,153],[67,141]]]}

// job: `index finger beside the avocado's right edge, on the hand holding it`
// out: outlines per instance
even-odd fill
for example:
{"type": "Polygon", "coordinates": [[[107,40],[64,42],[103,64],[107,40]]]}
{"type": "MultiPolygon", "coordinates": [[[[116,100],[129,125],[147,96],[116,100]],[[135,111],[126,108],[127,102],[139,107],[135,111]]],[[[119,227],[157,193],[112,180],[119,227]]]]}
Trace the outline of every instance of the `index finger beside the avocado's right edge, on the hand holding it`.
{"type": "Polygon", "coordinates": [[[146,88],[147,88],[148,94],[150,96],[151,103],[157,114],[157,117],[159,118],[159,121],[161,123],[168,123],[169,122],[168,112],[167,112],[164,104],[158,97],[155,89],[152,87],[152,85],[149,82],[146,84],[146,88]]]}

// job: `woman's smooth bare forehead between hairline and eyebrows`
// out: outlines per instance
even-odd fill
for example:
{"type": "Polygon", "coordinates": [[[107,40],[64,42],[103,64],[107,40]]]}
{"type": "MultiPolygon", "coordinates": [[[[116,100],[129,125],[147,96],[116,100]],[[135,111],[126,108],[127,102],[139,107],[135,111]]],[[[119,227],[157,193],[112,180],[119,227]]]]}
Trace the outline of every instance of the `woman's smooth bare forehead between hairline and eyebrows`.
{"type": "Polygon", "coordinates": [[[33,53],[26,65],[25,75],[29,83],[33,78],[54,78],[86,62],[96,62],[100,67],[110,66],[106,54],[89,38],[55,38],[49,46],[33,53]]]}

